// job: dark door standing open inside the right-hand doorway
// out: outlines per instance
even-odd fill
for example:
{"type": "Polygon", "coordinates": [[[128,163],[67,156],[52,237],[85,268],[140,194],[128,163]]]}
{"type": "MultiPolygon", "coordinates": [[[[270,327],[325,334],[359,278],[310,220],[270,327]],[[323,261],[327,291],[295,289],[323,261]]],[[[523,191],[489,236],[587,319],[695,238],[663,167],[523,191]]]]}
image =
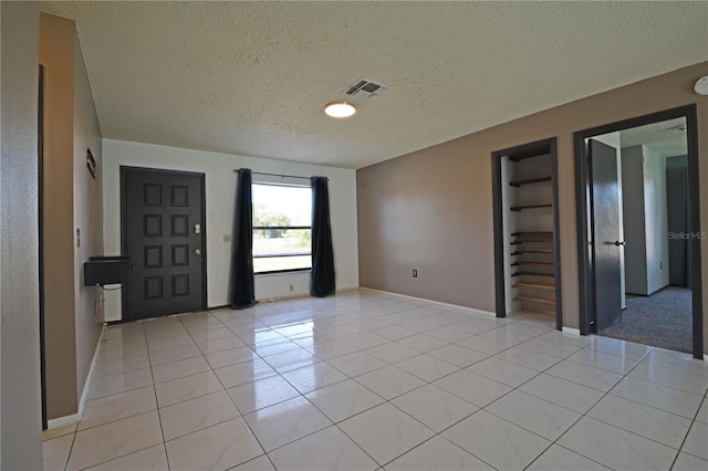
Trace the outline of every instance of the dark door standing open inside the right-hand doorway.
{"type": "Polygon", "coordinates": [[[595,332],[622,320],[622,245],[617,153],[597,140],[589,143],[592,171],[595,332]]]}

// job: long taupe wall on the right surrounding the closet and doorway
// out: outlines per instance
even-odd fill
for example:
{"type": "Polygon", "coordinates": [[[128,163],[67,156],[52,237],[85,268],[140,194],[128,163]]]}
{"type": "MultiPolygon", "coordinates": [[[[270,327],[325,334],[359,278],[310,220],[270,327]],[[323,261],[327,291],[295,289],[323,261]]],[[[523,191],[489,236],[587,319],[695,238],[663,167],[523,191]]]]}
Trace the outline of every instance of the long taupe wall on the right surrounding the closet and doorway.
{"type": "MultiPolygon", "coordinates": [[[[556,136],[563,324],[577,328],[573,133],[697,104],[705,230],[708,224],[708,138],[705,134],[708,97],[693,92],[694,83],[702,75],[708,75],[708,62],[360,169],[360,284],[493,312],[491,153],[556,136]],[[417,279],[412,278],[413,269],[418,270],[417,279]]],[[[702,241],[701,247],[706,306],[708,240],[702,241]]],[[[704,325],[708,331],[708,322],[704,325]]],[[[704,338],[708,341],[708,333],[704,338]]]]}

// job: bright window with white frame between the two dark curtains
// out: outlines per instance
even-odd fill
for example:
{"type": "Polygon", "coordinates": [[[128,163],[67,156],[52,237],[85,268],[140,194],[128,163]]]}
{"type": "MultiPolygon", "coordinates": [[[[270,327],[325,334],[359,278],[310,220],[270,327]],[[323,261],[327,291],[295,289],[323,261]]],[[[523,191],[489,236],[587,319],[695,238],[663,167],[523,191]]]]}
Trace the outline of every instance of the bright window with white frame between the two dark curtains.
{"type": "Polygon", "coordinates": [[[312,188],[253,184],[253,273],[312,269],[312,188]]]}

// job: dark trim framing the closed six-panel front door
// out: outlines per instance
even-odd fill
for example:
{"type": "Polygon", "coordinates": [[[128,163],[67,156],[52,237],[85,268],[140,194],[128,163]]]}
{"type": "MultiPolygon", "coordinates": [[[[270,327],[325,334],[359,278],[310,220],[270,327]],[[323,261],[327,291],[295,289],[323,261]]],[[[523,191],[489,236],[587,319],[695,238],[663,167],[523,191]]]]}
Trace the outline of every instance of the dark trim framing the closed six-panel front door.
{"type": "MultiPolygon", "coordinates": [[[[200,193],[201,193],[201,233],[204,237],[201,238],[201,311],[208,310],[207,304],[207,186],[205,174],[197,171],[184,171],[184,170],[171,170],[165,168],[150,168],[150,167],[134,167],[134,166],[125,166],[122,165],[119,168],[121,175],[121,253],[127,254],[127,195],[126,195],[126,178],[127,172],[131,170],[136,171],[145,171],[145,172],[155,172],[163,175],[183,175],[189,177],[198,177],[200,180],[200,193]]],[[[119,322],[133,322],[135,318],[131,318],[127,315],[128,312],[128,296],[126,290],[121,290],[121,321],[119,322]]],[[[168,314],[169,315],[169,314],[168,314]]]]}

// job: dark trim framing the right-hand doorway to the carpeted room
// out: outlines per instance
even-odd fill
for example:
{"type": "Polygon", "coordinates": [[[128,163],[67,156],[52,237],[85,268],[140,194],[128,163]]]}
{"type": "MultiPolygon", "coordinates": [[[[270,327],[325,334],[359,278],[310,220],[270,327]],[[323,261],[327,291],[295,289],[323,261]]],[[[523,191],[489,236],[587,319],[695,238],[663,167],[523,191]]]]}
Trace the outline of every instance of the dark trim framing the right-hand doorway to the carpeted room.
{"type": "MultiPolygon", "coordinates": [[[[590,203],[592,202],[592,181],[590,174],[590,160],[585,139],[593,136],[624,130],[647,124],[658,123],[675,118],[686,118],[686,139],[688,144],[688,207],[690,232],[700,232],[700,176],[698,155],[698,118],[696,105],[679,106],[658,113],[652,113],[629,119],[620,121],[589,129],[573,133],[574,160],[575,160],[575,213],[577,227],[577,278],[580,303],[580,333],[590,335],[592,332],[591,320],[594,306],[595,284],[593,278],[594,264],[591,250],[592,218],[590,203]]],[[[694,357],[704,357],[704,318],[702,318],[702,278],[700,239],[690,239],[691,258],[690,272],[693,280],[693,346],[694,357]]]]}

